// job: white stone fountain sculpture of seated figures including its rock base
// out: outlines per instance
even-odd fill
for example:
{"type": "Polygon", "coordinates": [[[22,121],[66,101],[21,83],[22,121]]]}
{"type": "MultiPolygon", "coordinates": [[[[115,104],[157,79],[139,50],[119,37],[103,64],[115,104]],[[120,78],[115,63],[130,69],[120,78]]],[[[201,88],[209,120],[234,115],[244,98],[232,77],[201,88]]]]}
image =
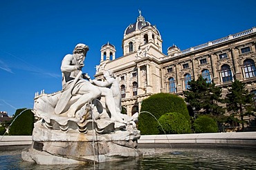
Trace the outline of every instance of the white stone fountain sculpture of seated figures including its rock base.
{"type": "Polygon", "coordinates": [[[120,114],[119,85],[110,70],[106,81],[82,74],[87,45],[79,43],[62,60],[62,91],[36,94],[38,118],[33,143],[23,160],[37,164],[80,164],[136,158],[140,131],[131,116],[120,114]]]}

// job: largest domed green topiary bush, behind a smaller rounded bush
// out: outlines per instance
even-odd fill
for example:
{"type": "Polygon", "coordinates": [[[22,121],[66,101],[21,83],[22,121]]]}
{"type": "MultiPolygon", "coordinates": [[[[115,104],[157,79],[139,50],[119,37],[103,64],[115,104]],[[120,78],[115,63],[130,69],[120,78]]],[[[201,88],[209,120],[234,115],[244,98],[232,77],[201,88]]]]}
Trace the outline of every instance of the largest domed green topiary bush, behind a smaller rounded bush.
{"type": "Polygon", "coordinates": [[[140,130],[140,134],[159,134],[160,131],[157,128],[158,118],[163,114],[171,112],[182,114],[186,120],[190,121],[187,106],[183,98],[179,96],[160,93],[143,100],[140,115],[138,116],[138,129],[140,130]]]}

